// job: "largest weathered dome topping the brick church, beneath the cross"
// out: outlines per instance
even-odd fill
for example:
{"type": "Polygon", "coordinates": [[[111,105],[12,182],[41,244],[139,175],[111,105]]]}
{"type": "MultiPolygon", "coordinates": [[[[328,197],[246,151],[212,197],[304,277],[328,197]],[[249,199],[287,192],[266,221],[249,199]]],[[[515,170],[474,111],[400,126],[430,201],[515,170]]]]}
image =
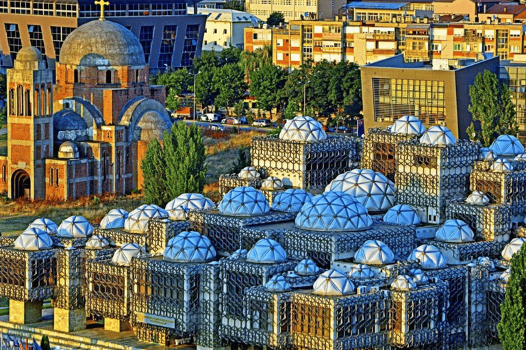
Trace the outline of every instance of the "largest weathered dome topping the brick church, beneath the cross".
{"type": "Polygon", "coordinates": [[[75,66],[144,66],[145,53],[134,33],[111,21],[91,21],[68,35],[59,62],[75,66]]]}

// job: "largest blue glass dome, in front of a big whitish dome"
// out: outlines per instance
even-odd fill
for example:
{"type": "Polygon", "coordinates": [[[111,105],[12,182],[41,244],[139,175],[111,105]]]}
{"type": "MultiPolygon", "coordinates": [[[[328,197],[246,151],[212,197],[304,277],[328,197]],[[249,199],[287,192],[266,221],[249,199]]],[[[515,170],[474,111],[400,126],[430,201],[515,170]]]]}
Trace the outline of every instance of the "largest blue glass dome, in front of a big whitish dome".
{"type": "Polygon", "coordinates": [[[314,231],[358,231],[373,226],[366,208],[343,192],[325,192],[303,204],[296,216],[297,228],[314,231]]]}

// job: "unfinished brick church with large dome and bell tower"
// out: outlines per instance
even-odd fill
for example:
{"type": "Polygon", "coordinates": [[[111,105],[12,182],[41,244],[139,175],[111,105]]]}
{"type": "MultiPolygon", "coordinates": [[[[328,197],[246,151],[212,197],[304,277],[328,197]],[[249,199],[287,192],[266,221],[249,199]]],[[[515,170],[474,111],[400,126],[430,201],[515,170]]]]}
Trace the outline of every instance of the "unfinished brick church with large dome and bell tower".
{"type": "Polygon", "coordinates": [[[102,17],[66,38],[54,85],[40,51],[21,49],[8,70],[0,192],[66,200],[140,188],[147,145],[171,126],[164,100],[136,36],[102,17]]]}

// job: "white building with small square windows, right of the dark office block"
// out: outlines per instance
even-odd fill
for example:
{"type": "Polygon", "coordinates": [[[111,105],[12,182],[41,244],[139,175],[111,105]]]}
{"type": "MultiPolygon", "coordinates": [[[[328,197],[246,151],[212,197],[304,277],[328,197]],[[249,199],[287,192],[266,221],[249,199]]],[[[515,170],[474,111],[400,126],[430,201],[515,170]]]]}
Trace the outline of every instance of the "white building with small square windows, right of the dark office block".
{"type": "MultiPolygon", "coordinates": [[[[193,13],[192,9],[189,9],[189,12],[193,13]]],[[[253,14],[236,10],[198,8],[197,13],[207,16],[203,38],[204,51],[221,51],[230,46],[243,49],[245,28],[257,27],[263,23],[253,14]]]]}

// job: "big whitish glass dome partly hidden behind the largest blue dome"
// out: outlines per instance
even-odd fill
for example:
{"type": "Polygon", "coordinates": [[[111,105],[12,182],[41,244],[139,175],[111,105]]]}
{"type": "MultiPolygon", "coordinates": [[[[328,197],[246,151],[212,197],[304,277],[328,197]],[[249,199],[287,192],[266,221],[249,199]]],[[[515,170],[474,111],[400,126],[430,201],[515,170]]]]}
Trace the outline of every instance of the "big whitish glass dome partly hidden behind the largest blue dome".
{"type": "Polygon", "coordinates": [[[395,205],[395,185],[384,174],[355,169],[336,176],[325,191],[342,191],[354,196],[368,211],[386,211],[395,205]]]}

